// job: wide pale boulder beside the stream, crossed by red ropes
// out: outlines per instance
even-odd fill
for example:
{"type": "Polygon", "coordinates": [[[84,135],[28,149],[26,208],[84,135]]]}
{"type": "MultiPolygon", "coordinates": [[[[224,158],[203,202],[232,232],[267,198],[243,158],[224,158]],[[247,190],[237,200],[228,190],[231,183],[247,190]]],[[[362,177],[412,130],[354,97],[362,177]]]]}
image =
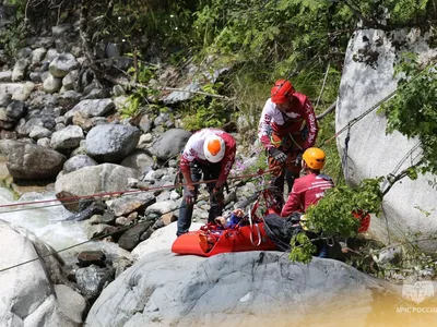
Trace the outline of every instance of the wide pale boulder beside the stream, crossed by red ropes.
{"type": "MultiPolygon", "coordinates": [[[[122,192],[129,189],[128,179],[138,179],[140,172],[113,164],[84,167],[70,173],[60,174],[55,183],[58,198],[84,196],[103,192],[122,192]]],[[[64,205],[70,211],[78,211],[78,204],[64,205]]]]}

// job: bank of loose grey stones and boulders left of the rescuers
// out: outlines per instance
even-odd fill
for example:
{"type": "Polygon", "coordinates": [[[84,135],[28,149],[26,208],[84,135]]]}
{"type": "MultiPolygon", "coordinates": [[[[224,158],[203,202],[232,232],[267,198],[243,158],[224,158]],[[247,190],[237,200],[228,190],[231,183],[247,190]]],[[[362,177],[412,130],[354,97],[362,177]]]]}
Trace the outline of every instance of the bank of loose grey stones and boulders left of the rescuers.
{"type": "MultiPolygon", "coordinates": [[[[51,35],[27,39],[14,61],[5,60],[5,52],[0,51],[1,180],[16,197],[26,192],[54,192],[71,211],[67,220],[86,220],[90,240],[115,243],[104,250],[94,245],[88,252],[68,256],[67,264],[54,264],[62,267],[64,282],[92,303],[104,286],[132,264],[130,251],[177,220],[181,197],[172,186],[178,154],[191,132],[182,129],[172,107],[191,94],[163,94],[166,110],[146,106],[132,119],[121,118],[119,111],[129,106],[126,87],[99,86],[70,24],[54,26],[51,35]],[[117,194],[91,196],[102,193],[117,194]]],[[[101,56],[125,71],[131,62],[113,44],[101,56]]],[[[165,78],[169,70],[162,68],[158,78],[165,78]]],[[[187,68],[191,77],[199,71],[187,68]]],[[[238,133],[234,136],[241,140],[238,133]]],[[[259,150],[257,144],[239,146],[233,174],[253,165],[259,150]]],[[[251,181],[231,182],[226,213],[257,189],[251,181]]],[[[202,187],[193,220],[204,222],[208,211],[208,193],[202,187]]]]}

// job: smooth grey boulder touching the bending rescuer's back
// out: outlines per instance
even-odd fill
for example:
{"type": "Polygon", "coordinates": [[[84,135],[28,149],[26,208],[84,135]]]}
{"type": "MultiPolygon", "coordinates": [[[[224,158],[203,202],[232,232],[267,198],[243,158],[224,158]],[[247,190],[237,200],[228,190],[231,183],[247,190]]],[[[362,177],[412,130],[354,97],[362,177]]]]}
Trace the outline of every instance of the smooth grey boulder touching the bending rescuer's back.
{"type": "Polygon", "coordinates": [[[160,160],[168,160],[180,153],[191,135],[191,132],[180,129],[168,130],[153,143],[150,153],[160,160]]]}

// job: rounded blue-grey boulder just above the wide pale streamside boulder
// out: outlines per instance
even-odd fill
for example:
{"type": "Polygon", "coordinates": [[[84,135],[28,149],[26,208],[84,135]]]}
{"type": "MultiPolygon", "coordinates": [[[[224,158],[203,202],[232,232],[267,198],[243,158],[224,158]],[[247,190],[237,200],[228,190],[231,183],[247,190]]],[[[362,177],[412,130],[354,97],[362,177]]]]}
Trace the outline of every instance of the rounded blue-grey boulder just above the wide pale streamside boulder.
{"type": "Polygon", "coordinates": [[[135,148],[140,135],[132,125],[97,125],[86,135],[86,154],[99,162],[121,161],[135,148]]]}

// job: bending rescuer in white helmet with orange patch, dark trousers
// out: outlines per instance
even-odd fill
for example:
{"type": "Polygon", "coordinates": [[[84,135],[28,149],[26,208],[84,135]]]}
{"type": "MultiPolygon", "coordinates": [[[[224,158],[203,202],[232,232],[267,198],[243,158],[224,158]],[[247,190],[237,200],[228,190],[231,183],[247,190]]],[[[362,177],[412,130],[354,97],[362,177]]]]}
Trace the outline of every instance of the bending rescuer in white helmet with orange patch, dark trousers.
{"type": "Polygon", "coordinates": [[[234,137],[218,129],[203,129],[188,140],[180,157],[180,170],[184,175],[184,199],[179,209],[177,232],[179,237],[188,232],[191,226],[192,209],[199,185],[203,180],[217,180],[206,183],[210,193],[210,214],[208,222],[214,222],[223,211],[223,186],[235,161],[236,144],[234,137]]]}

